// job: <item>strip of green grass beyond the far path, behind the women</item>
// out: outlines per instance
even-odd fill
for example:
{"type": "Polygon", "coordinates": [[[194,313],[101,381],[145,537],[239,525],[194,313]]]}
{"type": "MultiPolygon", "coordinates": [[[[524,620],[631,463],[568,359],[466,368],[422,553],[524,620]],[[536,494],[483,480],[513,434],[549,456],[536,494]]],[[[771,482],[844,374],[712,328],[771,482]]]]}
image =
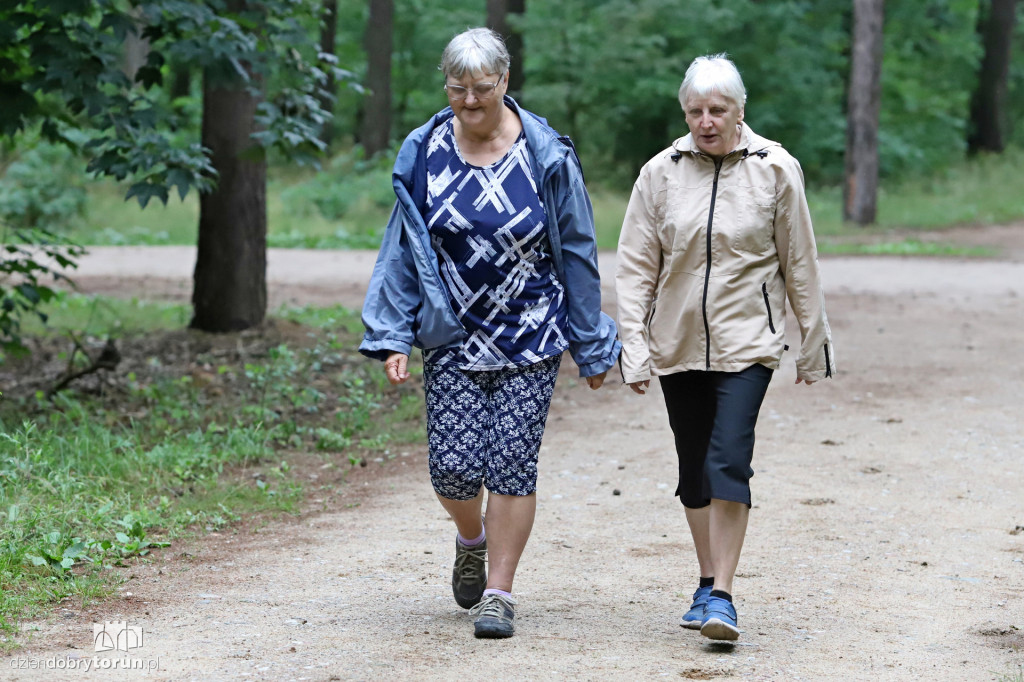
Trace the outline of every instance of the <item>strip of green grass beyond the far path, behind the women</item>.
{"type": "MultiPolygon", "coordinates": [[[[928,178],[883,181],[878,224],[844,224],[842,191],[811,186],[808,202],[824,253],[899,253],[907,255],[990,255],[950,245],[923,244],[894,231],[936,230],[964,224],[1005,223],[1024,218],[1024,151],[985,155],[963,161],[928,178]],[[866,242],[866,243],[865,243],[866,242]],[[881,243],[881,244],[880,244],[881,243]]],[[[172,199],[142,210],[124,202],[124,188],[113,182],[87,185],[87,218],[73,230],[83,244],[196,243],[199,200],[172,199]]],[[[271,247],[376,249],[390,211],[386,164],[366,167],[339,155],[316,173],[287,167],[271,169],[267,186],[267,243],[271,247]]],[[[627,187],[591,186],[598,247],[618,241],[627,187]]]]}

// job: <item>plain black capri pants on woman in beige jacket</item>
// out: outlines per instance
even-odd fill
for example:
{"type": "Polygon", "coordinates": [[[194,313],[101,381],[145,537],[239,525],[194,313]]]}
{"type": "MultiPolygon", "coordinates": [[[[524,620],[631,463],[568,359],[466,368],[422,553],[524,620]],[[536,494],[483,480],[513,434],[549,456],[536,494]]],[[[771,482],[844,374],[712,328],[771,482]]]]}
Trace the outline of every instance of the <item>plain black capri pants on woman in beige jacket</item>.
{"type": "Polygon", "coordinates": [[[715,500],[751,506],[754,426],[772,371],[679,372],[658,377],[679,457],[676,495],[699,509],[715,500]]]}

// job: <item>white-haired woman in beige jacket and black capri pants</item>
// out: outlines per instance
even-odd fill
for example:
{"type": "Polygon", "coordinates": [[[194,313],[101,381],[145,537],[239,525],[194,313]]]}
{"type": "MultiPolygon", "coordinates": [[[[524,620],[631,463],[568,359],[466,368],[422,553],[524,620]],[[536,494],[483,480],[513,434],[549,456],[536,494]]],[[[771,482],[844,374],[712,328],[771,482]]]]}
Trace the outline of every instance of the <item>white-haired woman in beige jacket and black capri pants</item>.
{"type": "Polygon", "coordinates": [[[725,640],[739,636],[732,579],[786,299],[802,339],[797,383],[836,369],[803,172],[743,123],[745,100],[724,54],[693,60],[679,89],[690,133],[640,171],[615,272],[624,379],[644,394],[659,378],[700,568],[681,625],[725,640]]]}

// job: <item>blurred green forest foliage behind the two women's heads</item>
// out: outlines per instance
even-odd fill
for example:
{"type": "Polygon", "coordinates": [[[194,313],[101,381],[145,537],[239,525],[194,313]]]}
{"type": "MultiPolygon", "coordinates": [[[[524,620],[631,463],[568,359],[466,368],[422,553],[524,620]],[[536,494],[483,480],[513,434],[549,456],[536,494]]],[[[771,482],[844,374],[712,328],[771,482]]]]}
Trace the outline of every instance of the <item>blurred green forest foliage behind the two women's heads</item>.
{"type": "MultiPolygon", "coordinates": [[[[339,54],[365,70],[365,3],[342,3],[339,54]]],[[[886,3],[883,176],[926,175],[964,154],[981,56],[978,0],[886,3]]],[[[482,4],[395,3],[396,140],[443,108],[436,65],[446,41],[482,23],[482,4]]],[[[1024,8],[1009,102],[1024,118],[1024,8]]],[[[524,103],[580,148],[588,176],[632,182],[640,165],[686,133],[676,100],[690,60],[728,52],[749,91],[746,121],[782,142],[810,181],[843,174],[850,68],[849,0],[563,0],[526,4],[524,103]]],[[[335,127],[354,135],[358,94],[339,94],[335,127]]],[[[1024,135],[1024,126],[1017,126],[1024,135]]],[[[1021,139],[1024,139],[1022,137],[1021,139]]]]}

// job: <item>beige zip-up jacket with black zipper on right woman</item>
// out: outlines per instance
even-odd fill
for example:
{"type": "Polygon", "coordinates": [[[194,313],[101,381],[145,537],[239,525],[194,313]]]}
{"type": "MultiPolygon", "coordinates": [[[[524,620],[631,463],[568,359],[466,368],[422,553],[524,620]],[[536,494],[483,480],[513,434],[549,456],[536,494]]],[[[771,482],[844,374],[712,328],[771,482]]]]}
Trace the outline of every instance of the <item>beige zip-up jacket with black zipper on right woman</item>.
{"type": "Polygon", "coordinates": [[[615,268],[627,383],[778,369],[786,298],[802,339],[798,378],[836,371],[803,171],[778,142],[741,126],[720,164],[686,135],[633,186],[615,268]]]}

